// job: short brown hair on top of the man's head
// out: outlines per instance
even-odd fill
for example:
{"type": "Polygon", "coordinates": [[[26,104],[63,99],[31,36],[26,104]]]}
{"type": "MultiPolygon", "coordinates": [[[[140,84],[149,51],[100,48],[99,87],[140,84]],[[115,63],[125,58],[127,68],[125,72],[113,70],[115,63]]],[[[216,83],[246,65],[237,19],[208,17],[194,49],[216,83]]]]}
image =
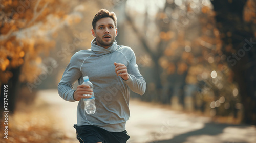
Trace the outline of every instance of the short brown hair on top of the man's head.
{"type": "Polygon", "coordinates": [[[106,9],[100,9],[99,12],[93,18],[93,23],[92,23],[93,29],[95,30],[96,22],[99,21],[99,19],[106,18],[106,17],[110,17],[111,19],[113,19],[113,21],[115,23],[115,27],[116,27],[116,24],[117,24],[116,23],[116,20],[117,20],[116,14],[113,11],[109,12],[106,9]]]}

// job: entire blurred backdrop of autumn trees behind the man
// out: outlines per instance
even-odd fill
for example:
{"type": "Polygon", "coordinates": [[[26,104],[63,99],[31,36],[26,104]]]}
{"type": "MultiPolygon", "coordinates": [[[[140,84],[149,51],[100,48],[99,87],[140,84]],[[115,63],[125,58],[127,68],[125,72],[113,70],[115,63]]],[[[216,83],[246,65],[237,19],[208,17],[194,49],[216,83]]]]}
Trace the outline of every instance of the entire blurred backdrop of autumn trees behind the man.
{"type": "Polygon", "coordinates": [[[91,21],[106,8],[118,17],[118,44],[132,47],[147,82],[145,96],[134,98],[256,124],[255,4],[3,1],[0,79],[1,87],[9,86],[9,110],[18,98],[57,87],[71,56],[90,48],[91,21]]]}

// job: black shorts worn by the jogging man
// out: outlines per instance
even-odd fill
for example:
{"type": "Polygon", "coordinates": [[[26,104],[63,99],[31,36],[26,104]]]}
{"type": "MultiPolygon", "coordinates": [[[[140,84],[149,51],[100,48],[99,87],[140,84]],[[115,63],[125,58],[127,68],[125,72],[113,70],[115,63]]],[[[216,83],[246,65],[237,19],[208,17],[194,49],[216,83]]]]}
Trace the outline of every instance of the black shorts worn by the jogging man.
{"type": "Polygon", "coordinates": [[[80,143],[125,143],[130,138],[126,130],[109,132],[94,125],[78,126],[77,124],[74,124],[74,128],[76,129],[76,138],[80,143]]]}

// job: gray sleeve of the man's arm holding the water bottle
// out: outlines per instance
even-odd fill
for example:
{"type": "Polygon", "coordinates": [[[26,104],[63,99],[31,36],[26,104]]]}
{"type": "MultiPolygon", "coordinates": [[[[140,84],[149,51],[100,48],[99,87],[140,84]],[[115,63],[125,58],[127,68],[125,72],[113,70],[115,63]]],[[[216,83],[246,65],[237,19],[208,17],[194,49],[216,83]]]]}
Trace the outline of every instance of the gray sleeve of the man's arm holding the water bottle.
{"type": "Polygon", "coordinates": [[[74,54],[58,84],[59,96],[67,101],[76,101],[73,97],[73,93],[75,92],[75,90],[73,90],[73,85],[82,76],[77,61],[76,54],[74,54]]]}

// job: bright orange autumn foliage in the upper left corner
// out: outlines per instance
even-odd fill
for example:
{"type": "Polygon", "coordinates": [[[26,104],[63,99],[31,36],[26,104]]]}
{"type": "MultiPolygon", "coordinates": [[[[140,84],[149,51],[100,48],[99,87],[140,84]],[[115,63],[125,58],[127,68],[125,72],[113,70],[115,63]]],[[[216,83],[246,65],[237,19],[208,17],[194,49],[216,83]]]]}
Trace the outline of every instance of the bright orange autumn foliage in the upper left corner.
{"type": "MultiPolygon", "coordinates": [[[[1,2],[2,3],[2,2],[1,2]]],[[[4,1],[0,7],[0,82],[7,83],[13,70],[22,67],[19,80],[31,82],[40,74],[35,64],[55,42],[46,37],[51,30],[48,17],[62,19],[68,11],[60,1],[4,1]],[[38,32],[40,30],[40,32],[38,32]],[[34,75],[34,76],[32,76],[34,75]]],[[[56,23],[55,23],[56,24],[56,23]]],[[[52,25],[53,27],[54,25],[52,25]]]]}

